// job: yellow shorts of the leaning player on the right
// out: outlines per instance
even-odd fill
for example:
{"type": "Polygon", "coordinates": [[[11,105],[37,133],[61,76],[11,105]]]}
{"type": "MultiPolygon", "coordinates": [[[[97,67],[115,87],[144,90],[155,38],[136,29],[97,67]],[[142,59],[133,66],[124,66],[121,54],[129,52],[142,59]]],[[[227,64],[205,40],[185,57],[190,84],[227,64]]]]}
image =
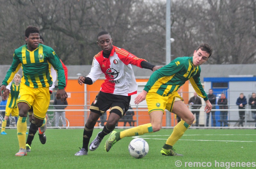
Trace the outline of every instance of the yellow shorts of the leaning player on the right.
{"type": "Polygon", "coordinates": [[[161,96],[155,92],[148,91],[146,95],[146,102],[148,105],[148,114],[152,111],[163,111],[167,109],[172,112],[173,103],[175,101],[182,100],[178,92],[173,92],[172,95],[169,96],[161,96]]]}

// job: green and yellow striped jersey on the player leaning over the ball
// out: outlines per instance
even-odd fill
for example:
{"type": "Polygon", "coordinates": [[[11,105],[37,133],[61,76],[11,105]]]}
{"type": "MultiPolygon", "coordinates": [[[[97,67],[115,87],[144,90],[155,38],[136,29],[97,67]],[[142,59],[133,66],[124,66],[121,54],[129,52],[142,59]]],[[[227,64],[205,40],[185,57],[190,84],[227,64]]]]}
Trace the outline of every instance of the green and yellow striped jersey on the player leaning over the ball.
{"type": "Polygon", "coordinates": [[[206,101],[208,97],[200,82],[200,73],[200,66],[193,65],[193,57],[176,58],[168,65],[156,70],[150,76],[144,90],[168,96],[189,80],[197,95],[206,101]]]}

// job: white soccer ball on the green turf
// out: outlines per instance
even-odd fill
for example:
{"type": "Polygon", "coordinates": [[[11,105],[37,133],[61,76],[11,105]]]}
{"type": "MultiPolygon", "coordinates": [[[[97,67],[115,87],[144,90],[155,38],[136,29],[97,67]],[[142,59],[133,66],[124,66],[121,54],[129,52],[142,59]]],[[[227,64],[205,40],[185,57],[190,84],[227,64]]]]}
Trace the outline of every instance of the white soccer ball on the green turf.
{"type": "Polygon", "coordinates": [[[148,154],[148,143],[142,138],[134,138],[128,146],[128,151],[134,158],[143,158],[148,154]]]}

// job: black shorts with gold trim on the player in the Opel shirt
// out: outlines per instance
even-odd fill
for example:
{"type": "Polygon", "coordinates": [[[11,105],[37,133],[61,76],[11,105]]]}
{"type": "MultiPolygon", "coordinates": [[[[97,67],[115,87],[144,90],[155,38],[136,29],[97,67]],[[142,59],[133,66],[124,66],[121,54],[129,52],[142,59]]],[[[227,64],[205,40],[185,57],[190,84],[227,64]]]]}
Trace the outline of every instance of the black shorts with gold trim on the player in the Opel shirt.
{"type": "Polygon", "coordinates": [[[114,95],[100,91],[92,102],[90,110],[102,115],[110,108],[110,113],[116,113],[123,117],[129,109],[131,96],[114,95]]]}

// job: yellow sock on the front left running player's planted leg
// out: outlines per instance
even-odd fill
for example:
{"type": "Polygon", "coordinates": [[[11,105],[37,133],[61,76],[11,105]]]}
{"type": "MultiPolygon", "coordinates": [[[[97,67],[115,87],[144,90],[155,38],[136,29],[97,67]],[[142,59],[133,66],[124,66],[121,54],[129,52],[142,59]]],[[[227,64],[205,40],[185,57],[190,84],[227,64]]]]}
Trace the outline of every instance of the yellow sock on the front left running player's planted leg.
{"type": "Polygon", "coordinates": [[[20,148],[26,149],[27,117],[18,117],[17,136],[20,148]]]}

